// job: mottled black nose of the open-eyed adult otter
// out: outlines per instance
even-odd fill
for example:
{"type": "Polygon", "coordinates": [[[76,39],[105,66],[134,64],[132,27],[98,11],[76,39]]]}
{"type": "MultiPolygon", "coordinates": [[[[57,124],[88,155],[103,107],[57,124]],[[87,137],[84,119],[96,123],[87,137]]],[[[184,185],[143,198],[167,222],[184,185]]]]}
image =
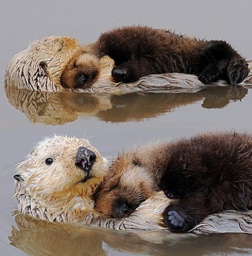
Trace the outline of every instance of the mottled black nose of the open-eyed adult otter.
{"type": "Polygon", "coordinates": [[[95,159],[96,154],[93,151],[89,150],[87,147],[79,147],[75,166],[87,172],[87,175],[90,175],[95,159]]]}

